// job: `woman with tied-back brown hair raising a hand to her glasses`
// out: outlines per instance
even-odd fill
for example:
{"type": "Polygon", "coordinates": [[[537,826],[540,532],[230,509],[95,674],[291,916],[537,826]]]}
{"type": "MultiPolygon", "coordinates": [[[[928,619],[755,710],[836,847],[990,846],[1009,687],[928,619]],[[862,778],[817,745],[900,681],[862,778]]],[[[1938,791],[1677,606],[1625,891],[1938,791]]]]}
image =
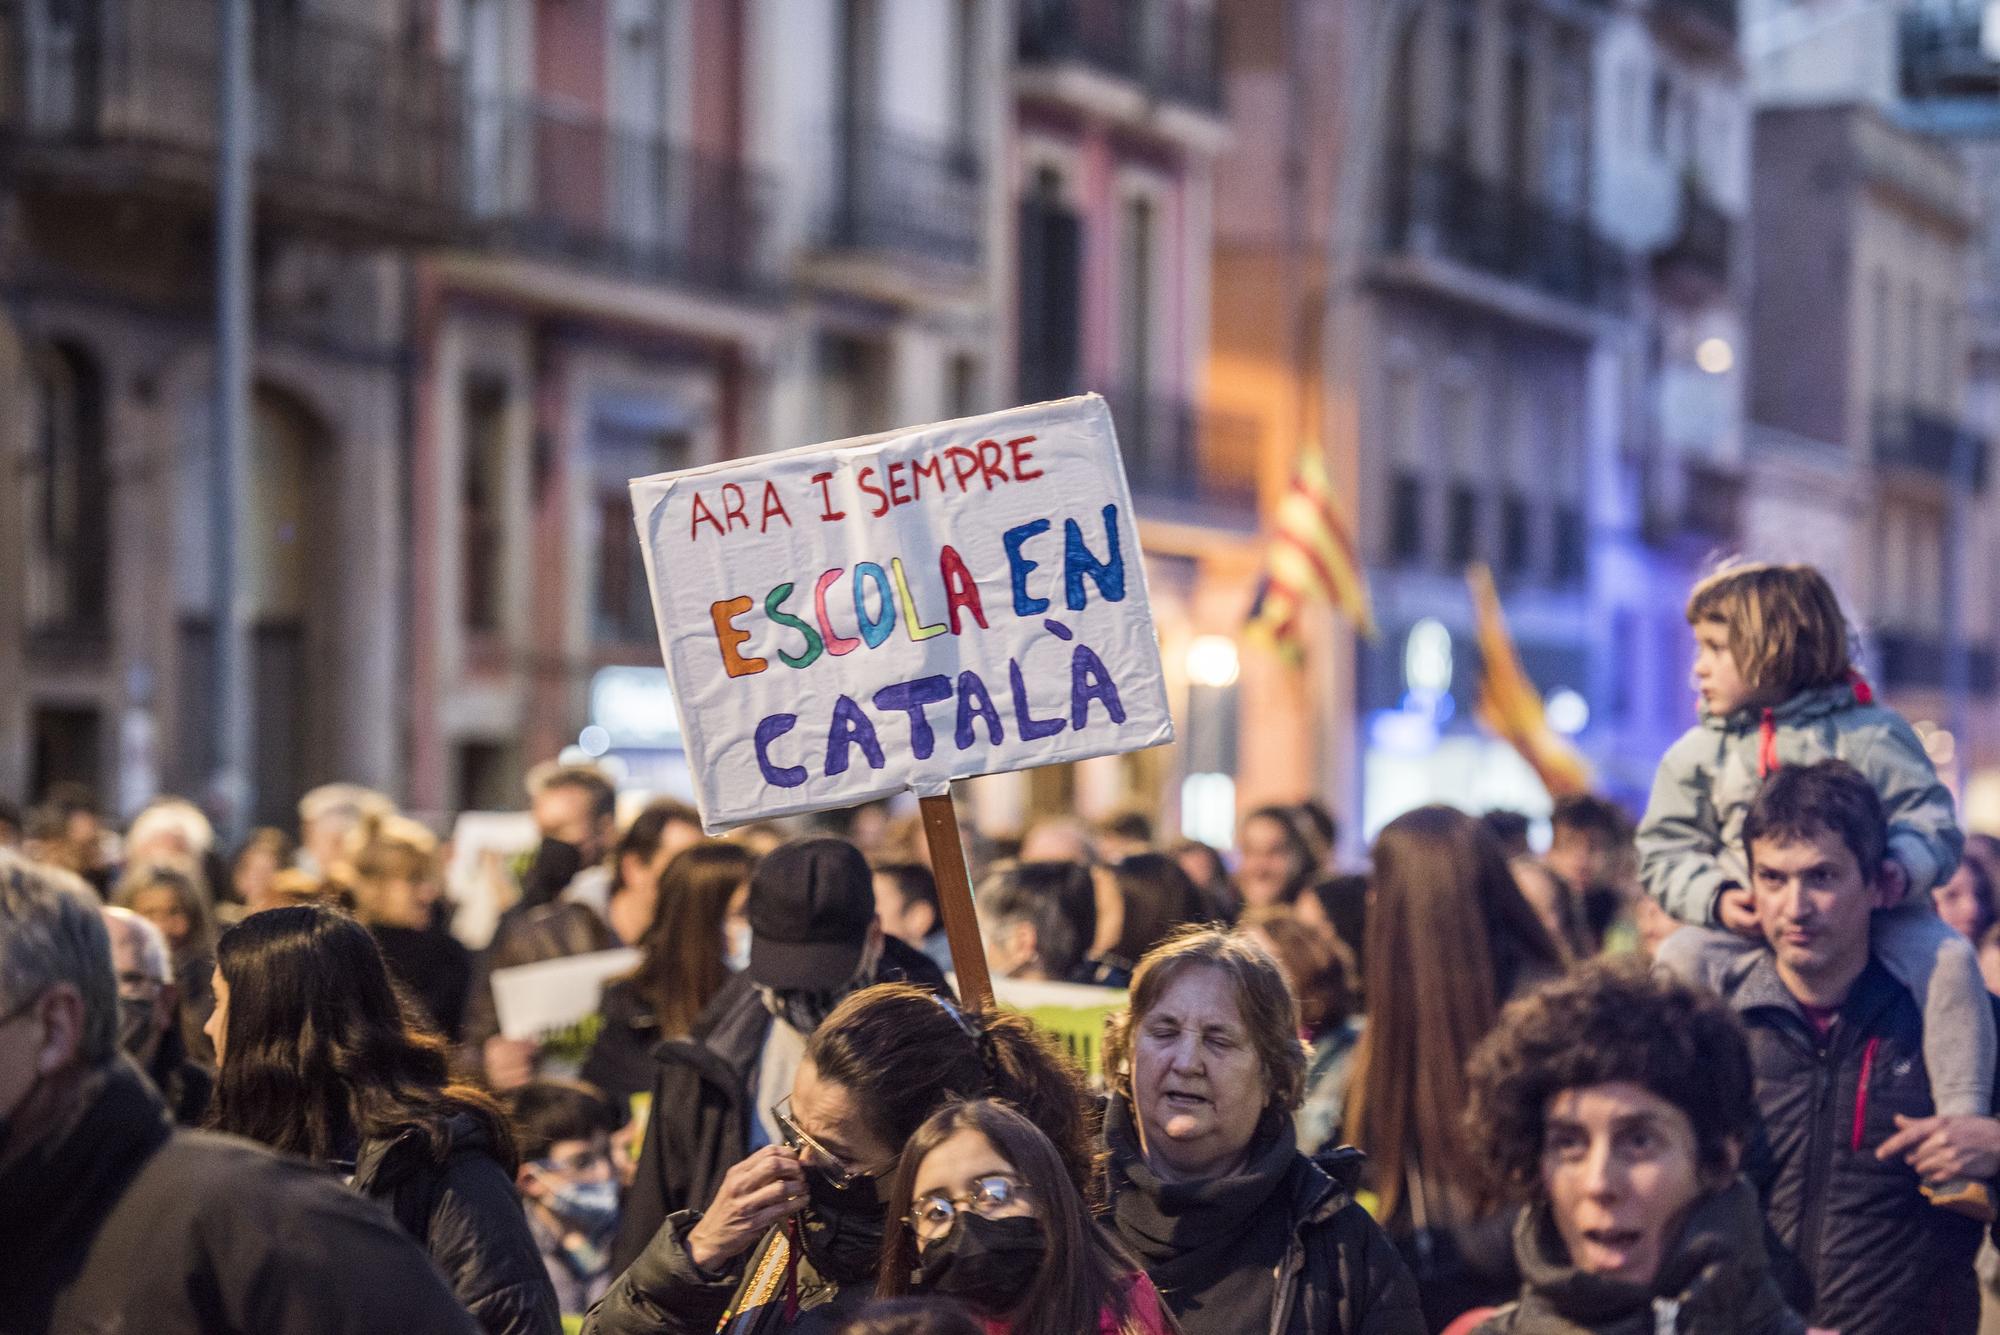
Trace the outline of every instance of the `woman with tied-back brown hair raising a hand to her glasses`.
{"type": "Polygon", "coordinates": [[[876,1291],[904,1143],[976,1097],[1032,1117],[1060,1177],[1088,1191],[1082,1073],[1026,1017],[968,1013],[908,983],[856,991],[812,1031],[774,1107],[780,1143],[724,1173],[706,1209],[668,1215],[586,1335],[838,1331],[876,1291]]]}

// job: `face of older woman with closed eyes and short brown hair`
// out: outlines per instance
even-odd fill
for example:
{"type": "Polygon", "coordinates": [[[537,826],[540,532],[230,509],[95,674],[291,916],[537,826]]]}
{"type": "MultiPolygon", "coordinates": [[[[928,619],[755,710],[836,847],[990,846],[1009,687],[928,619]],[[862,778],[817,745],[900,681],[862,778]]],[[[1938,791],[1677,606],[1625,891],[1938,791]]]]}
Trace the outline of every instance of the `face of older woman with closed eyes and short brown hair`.
{"type": "Polygon", "coordinates": [[[1182,969],[1132,1037],[1132,1103],[1146,1163],[1166,1181],[1234,1169],[1270,1099],[1228,973],[1182,969]]]}

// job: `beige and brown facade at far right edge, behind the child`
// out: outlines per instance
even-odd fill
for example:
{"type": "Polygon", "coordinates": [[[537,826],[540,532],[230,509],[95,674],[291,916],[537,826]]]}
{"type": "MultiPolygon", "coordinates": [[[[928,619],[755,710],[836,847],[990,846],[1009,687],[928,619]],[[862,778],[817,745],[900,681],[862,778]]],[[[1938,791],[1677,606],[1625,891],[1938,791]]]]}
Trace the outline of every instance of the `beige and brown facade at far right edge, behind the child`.
{"type": "Polygon", "coordinates": [[[1884,697],[1970,793],[2000,779],[1986,482],[2000,418],[1982,352],[2000,80],[1962,4],[1752,4],[1760,306],[1744,544],[1834,572],[1884,697]],[[1814,244],[1840,250],[1818,266],[1792,250],[1814,244]]]}

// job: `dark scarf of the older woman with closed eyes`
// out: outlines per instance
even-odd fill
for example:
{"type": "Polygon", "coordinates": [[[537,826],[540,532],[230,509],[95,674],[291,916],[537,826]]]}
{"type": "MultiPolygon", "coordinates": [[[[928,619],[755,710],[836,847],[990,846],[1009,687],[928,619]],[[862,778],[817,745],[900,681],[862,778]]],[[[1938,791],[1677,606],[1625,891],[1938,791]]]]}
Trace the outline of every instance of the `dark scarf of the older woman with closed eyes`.
{"type": "Polygon", "coordinates": [[[1292,1241],[1292,1121],[1266,1113],[1242,1171],[1166,1183],[1138,1147],[1132,1105],[1104,1111],[1110,1215],[1186,1335],[1238,1335],[1270,1325],[1272,1273],[1292,1241]]]}

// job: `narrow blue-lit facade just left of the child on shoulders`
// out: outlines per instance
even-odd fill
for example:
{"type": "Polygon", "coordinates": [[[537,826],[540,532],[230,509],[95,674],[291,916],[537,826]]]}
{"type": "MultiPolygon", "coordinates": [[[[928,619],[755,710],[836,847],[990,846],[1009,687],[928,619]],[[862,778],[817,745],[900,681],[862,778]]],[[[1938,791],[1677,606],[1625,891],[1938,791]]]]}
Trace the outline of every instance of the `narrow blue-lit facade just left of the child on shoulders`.
{"type": "Polygon", "coordinates": [[[1618,446],[1596,462],[1590,755],[1642,803],[1694,723],[1688,588],[1742,542],[1752,104],[1734,0],[1622,0],[1596,44],[1592,212],[1632,256],[1602,356],[1618,446]]]}

